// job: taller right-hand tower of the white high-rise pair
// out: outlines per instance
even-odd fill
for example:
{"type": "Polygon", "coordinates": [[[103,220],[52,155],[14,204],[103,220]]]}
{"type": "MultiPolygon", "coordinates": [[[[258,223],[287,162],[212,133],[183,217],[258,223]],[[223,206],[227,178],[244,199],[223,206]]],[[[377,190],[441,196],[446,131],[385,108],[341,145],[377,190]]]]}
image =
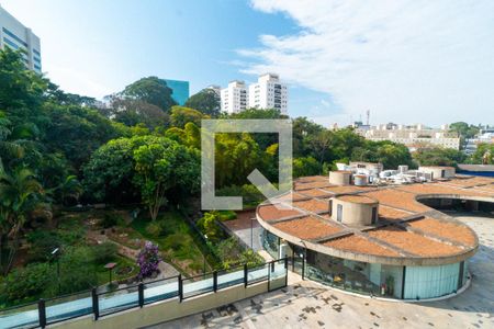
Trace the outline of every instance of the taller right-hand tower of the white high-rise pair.
{"type": "Polygon", "coordinates": [[[276,109],[282,114],[288,112],[288,88],[280,81],[278,75],[266,73],[259,77],[257,83],[249,86],[249,107],[276,109]]]}

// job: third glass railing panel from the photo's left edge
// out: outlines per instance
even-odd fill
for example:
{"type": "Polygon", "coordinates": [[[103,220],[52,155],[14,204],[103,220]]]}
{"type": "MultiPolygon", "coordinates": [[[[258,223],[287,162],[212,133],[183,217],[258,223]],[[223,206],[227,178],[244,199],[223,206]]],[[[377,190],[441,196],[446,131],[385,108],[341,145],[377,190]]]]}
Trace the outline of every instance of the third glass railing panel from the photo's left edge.
{"type": "Polygon", "coordinates": [[[102,293],[98,299],[101,316],[139,306],[137,286],[102,293]]]}

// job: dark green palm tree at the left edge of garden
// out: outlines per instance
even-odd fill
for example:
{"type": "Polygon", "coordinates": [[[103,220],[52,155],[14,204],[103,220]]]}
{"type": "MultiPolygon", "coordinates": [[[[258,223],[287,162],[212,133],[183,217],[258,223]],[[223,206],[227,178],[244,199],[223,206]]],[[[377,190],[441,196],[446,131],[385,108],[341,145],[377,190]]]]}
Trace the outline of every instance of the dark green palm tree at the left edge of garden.
{"type": "Polygon", "coordinates": [[[48,208],[43,203],[43,186],[30,169],[16,168],[9,173],[0,163],[0,249],[3,247],[2,240],[5,237],[12,240],[5,273],[12,265],[19,248],[19,232],[24,227],[29,215],[41,208],[48,208]]]}

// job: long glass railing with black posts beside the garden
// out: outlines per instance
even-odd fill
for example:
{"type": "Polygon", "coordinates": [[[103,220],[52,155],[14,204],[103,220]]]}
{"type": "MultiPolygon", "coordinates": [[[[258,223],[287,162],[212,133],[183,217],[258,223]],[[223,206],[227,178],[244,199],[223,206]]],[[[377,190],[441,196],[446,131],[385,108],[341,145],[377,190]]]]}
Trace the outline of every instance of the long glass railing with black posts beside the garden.
{"type": "MultiPolygon", "coordinates": [[[[274,282],[280,286],[287,276],[287,260],[272,261],[260,266],[246,265],[228,271],[206,273],[182,279],[181,275],[130,285],[123,288],[97,292],[97,288],[78,294],[41,299],[27,305],[0,310],[0,329],[46,327],[81,316],[94,315],[94,319],[147,304],[179,298],[180,300],[215,293],[235,286],[259,282],[274,282]]],[[[269,285],[268,285],[269,286],[269,285]]],[[[284,286],[283,284],[281,286],[284,286]]]]}

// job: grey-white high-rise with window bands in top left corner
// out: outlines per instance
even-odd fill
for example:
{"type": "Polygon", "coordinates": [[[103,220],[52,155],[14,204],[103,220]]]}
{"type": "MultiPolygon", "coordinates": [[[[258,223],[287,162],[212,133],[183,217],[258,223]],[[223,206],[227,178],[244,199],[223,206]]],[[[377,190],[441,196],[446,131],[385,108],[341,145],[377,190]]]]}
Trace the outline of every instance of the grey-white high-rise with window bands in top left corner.
{"type": "Polygon", "coordinates": [[[40,37],[0,5],[0,49],[23,49],[22,60],[35,72],[42,72],[40,37]]]}

